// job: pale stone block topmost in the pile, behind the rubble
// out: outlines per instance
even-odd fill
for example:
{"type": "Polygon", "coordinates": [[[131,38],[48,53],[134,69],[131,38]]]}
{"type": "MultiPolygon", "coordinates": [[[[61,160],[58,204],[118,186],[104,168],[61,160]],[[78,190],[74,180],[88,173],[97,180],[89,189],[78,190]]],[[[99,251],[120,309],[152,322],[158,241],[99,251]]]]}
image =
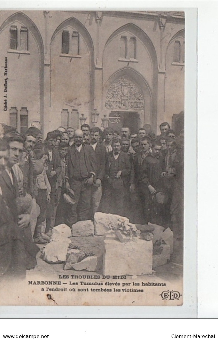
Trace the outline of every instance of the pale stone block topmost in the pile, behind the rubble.
{"type": "Polygon", "coordinates": [[[129,219],[116,214],[96,212],[94,214],[94,234],[104,235],[109,230],[116,230],[120,222],[129,223],[129,219]]]}

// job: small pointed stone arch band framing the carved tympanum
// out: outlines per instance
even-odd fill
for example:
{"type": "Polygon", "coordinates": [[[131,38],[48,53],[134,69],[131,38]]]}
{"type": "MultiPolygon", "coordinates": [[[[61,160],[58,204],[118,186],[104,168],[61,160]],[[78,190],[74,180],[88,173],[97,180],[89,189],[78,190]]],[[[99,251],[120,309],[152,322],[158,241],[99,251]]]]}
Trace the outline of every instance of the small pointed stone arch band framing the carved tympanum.
{"type": "MultiPolygon", "coordinates": [[[[137,95],[137,93],[136,93],[137,95]]],[[[136,101],[138,98],[135,98],[136,101]]],[[[116,98],[115,98],[116,100],[116,98]]],[[[122,69],[119,69],[117,72],[115,72],[106,82],[104,88],[103,88],[103,109],[105,112],[108,112],[110,114],[110,110],[112,111],[138,111],[139,117],[140,117],[140,126],[143,126],[144,124],[151,124],[152,127],[154,127],[154,122],[156,121],[156,116],[154,119],[154,112],[152,111],[153,107],[153,98],[152,98],[152,92],[151,88],[149,87],[147,81],[144,79],[144,77],[136,72],[134,69],[130,67],[125,67],[122,69]],[[107,93],[110,86],[116,83],[118,79],[126,79],[129,80],[133,85],[135,85],[138,89],[139,92],[141,92],[143,96],[143,104],[144,107],[135,107],[132,106],[130,108],[127,107],[127,109],[123,109],[122,107],[116,108],[116,107],[111,107],[111,109],[107,106],[106,100],[107,100],[107,93]]]]}

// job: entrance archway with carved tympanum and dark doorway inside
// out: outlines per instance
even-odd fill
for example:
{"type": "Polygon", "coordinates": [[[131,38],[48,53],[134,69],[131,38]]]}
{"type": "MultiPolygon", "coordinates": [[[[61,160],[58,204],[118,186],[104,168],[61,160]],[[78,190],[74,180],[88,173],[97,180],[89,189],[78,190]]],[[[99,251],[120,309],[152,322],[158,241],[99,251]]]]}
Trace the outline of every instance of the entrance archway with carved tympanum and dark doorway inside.
{"type": "Polygon", "coordinates": [[[150,88],[145,79],[132,69],[122,69],[112,75],[104,87],[103,96],[104,111],[114,129],[125,125],[135,131],[146,123],[152,124],[150,88]]]}

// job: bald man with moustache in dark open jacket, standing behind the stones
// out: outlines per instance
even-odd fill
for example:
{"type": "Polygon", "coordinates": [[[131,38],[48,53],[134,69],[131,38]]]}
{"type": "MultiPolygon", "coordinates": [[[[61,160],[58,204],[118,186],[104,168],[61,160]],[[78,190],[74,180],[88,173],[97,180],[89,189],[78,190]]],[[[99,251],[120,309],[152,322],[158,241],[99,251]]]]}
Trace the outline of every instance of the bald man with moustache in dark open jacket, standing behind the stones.
{"type": "Polygon", "coordinates": [[[75,143],[68,149],[66,171],[66,189],[71,188],[75,195],[75,204],[68,208],[66,224],[71,226],[77,221],[91,217],[91,185],[95,177],[95,155],[89,145],[83,144],[83,132],[77,129],[75,143]]]}

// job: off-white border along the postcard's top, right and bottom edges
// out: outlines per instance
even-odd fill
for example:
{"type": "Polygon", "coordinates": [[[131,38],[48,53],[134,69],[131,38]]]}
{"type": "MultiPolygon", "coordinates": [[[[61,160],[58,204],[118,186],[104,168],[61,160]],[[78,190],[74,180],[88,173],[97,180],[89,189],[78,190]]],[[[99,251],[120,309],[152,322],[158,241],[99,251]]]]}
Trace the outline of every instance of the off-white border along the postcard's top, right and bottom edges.
{"type": "MultiPolygon", "coordinates": [[[[204,2],[204,1],[202,1],[204,2]]],[[[210,2],[210,1],[207,1],[210,2]]],[[[185,66],[185,241],[184,304],[182,306],[1,306],[2,318],[194,318],[197,316],[197,246],[196,246],[196,79],[197,10],[183,6],[196,1],[1,1],[5,9],[121,9],[183,10],[186,12],[185,66]],[[181,6],[183,5],[183,6],[181,6]],[[166,7],[164,7],[166,6],[166,7]],[[191,145],[191,147],[190,147],[191,145]]]]}

